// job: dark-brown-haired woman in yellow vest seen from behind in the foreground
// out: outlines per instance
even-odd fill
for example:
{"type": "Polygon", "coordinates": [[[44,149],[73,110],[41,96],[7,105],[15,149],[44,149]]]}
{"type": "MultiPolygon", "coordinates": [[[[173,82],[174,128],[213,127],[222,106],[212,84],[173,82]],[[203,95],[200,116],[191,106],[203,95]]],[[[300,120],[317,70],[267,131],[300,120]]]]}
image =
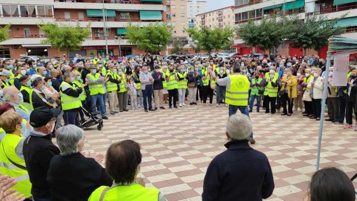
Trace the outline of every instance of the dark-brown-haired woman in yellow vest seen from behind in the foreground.
{"type": "Polygon", "coordinates": [[[141,163],[140,145],[130,139],[113,143],[107,151],[105,167],[113,178],[112,185],[97,188],[88,201],[98,200],[146,200],[165,201],[157,188],[145,187],[142,178],[138,178],[141,163]],[[111,187],[109,187],[111,186],[111,187]]]}

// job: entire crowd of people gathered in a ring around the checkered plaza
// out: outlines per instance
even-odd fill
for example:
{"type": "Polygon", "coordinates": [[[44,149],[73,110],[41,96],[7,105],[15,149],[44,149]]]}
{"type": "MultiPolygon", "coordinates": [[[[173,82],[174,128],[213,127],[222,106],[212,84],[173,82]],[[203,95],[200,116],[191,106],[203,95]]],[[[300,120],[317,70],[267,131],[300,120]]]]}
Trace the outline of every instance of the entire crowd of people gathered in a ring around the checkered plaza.
{"type": "MultiPolygon", "coordinates": [[[[164,110],[165,105],[168,109],[188,103],[195,107],[199,101],[206,106],[207,100],[213,106],[216,95],[216,107],[229,107],[226,136],[230,142],[225,144],[227,151],[208,166],[203,200],[261,200],[272,194],[274,181],[268,159],[248,144],[255,143],[249,119],[254,106],[256,112],[262,109],[275,114],[283,108],[281,115],[291,116],[300,109],[304,117],[323,118],[326,63],[317,56],[197,61],[185,55],[175,60],[150,54],[118,60],[109,55],[92,60],[76,55],[73,62],[70,64],[67,58],[49,62],[26,59],[24,63],[0,60],[0,172],[10,176],[1,177],[4,186],[11,183],[11,190],[1,188],[0,197],[35,201],[166,200],[157,188],[146,188],[144,180],[137,177],[141,163],[138,143],[124,140],[112,144],[105,168],[99,164],[103,155],[84,153],[85,138],[79,125],[87,117],[82,107],[97,111],[107,120],[108,114],[128,112],[128,105],[131,110],[142,107],[145,112],[164,110]],[[238,109],[242,114],[236,114],[238,109]],[[51,141],[54,136],[58,147],[51,141]],[[242,165],[241,161],[246,162],[242,165]],[[247,185],[242,182],[248,180],[250,190],[236,189],[237,185],[247,185]],[[14,188],[20,196],[11,194],[14,188]]],[[[344,128],[352,128],[357,70],[349,67],[346,86],[333,86],[332,76],[333,67],[328,72],[325,120],[343,124],[346,117],[344,128]]],[[[319,195],[325,193],[354,200],[352,183],[346,183],[345,177],[335,168],[316,172],[308,199],[320,200],[319,195]],[[325,172],[330,172],[331,178],[320,181],[325,172]],[[333,187],[334,179],[343,182],[333,187]],[[321,191],[317,186],[323,182],[326,185],[321,191]]]]}

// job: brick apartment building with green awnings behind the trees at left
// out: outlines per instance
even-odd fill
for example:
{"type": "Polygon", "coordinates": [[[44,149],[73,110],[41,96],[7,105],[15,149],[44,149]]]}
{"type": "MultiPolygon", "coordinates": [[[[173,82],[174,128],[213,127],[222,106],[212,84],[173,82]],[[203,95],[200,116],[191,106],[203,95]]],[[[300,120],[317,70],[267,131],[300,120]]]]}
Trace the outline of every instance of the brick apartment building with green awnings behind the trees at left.
{"type": "MultiPolygon", "coordinates": [[[[14,3],[0,3],[0,26],[11,23],[11,40],[0,43],[0,58],[25,55],[61,56],[63,53],[50,44],[41,44],[46,33],[37,28],[40,18],[45,22],[57,21],[63,24],[86,27],[92,21],[92,35],[85,40],[78,51],[70,51],[69,56],[105,55],[105,37],[108,52],[119,55],[119,41],[114,36],[123,36],[130,17],[133,24],[145,26],[151,22],[166,21],[166,2],[162,0],[17,0],[14,3]],[[104,35],[103,8],[105,9],[109,35],[104,35]]],[[[186,13],[186,8],[182,9],[186,13]]],[[[185,21],[186,22],[186,21],[185,21]]],[[[124,55],[143,53],[135,45],[120,42],[124,55]]]]}

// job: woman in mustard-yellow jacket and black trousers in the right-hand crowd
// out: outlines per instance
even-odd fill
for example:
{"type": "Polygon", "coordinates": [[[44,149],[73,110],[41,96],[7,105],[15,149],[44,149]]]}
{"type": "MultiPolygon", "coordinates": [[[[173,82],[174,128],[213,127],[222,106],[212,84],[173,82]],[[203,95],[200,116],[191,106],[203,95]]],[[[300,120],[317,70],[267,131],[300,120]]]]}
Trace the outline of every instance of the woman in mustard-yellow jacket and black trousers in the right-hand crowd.
{"type": "Polygon", "coordinates": [[[286,73],[287,75],[284,75],[284,77],[281,80],[281,89],[280,89],[280,95],[281,95],[281,103],[283,106],[283,115],[291,116],[292,114],[292,106],[293,106],[293,100],[294,98],[297,97],[297,80],[294,75],[292,75],[293,69],[288,68],[286,73]],[[288,103],[288,110],[286,109],[286,102],[288,103]]]}

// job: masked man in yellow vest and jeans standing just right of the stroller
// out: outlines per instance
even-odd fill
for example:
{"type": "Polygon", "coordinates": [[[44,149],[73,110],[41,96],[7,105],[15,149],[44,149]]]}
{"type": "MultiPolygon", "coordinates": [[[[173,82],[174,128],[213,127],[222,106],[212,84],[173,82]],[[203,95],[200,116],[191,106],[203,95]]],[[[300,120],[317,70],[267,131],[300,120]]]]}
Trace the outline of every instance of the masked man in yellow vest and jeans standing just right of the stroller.
{"type": "MultiPolygon", "coordinates": [[[[88,80],[89,87],[89,95],[91,99],[91,105],[93,107],[92,112],[96,111],[97,102],[99,103],[97,110],[101,112],[102,119],[108,119],[105,116],[105,108],[104,108],[104,99],[103,94],[105,94],[105,90],[103,87],[103,83],[105,82],[104,77],[101,77],[99,73],[97,73],[97,69],[95,65],[89,66],[90,73],[87,74],[86,79],[88,80]]],[[[106,78],[109,80],[109,78],[106,78]]]]}

